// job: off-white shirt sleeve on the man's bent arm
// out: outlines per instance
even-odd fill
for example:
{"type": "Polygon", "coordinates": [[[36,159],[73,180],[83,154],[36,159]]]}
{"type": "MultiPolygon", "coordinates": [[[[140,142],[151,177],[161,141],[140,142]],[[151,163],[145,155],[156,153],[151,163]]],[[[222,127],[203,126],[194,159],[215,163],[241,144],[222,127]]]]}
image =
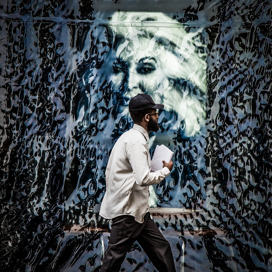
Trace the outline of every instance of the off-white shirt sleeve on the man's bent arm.
{"type": "Polygon", "coordinates": [[[167,167],[163,167],[162,170],[150,172],[147,152],[148,145],[144,140],[136,142],[127,152],[136,183],[141,187],[160,183],[170,173],[167,167]]]}

